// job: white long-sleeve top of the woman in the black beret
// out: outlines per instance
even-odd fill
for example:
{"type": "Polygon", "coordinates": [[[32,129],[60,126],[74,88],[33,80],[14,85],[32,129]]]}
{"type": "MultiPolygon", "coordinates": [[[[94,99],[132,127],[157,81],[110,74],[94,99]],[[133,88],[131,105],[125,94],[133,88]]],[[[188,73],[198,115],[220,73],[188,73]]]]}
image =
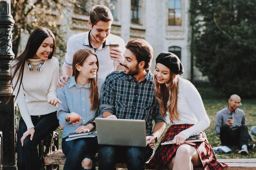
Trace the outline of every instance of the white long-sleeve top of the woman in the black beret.
{"type": "Polygon", "coordinates": [[[194,124],[192,127],[180,132],[189,138],[189,136],[200,133],[209,127],[210,120],[195,86],[181,77],[179,77],[178,86],[177,112],[179,120],[174,120],[173,125],[194,124]]]}

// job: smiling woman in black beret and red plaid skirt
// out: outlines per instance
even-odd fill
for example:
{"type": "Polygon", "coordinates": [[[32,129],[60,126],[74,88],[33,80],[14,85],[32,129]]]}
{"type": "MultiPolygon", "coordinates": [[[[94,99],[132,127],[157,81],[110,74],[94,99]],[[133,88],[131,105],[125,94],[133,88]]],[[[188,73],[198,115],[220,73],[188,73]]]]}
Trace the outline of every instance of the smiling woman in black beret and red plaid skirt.
{"type": "Polygon", "coordinates": [[[171,136],[173,144],[159,145],[150,164],[161,170],[192,170],[193,166],[203,166],[207,170],[221,170],[227,164],[218,162],[204,130],[210,125],[209,117],[197,89],[183,79],[183,65],[180,59],[170,52],[163,52],[156,59],[154,82],[155,96],[160,104],[162,116],[169,113],[171,126],[164,134],[161,143],[171,136]],[[184,143],[195,134],[202,133],[203,142],[184,143]]]}

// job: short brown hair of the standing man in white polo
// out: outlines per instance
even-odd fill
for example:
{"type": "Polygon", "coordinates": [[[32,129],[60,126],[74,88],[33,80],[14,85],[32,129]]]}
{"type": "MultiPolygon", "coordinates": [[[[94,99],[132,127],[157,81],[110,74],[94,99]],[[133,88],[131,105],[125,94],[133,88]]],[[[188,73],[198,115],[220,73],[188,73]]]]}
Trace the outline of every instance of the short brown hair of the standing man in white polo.
{"type": "Polygon", "coordinates": [[[92,26],[94,26],[99,21],[113,21],[113,16],[108,7],[97,5],[93,6],[93,8],[90,11],[90,21],[92,23],[92,26]]]}

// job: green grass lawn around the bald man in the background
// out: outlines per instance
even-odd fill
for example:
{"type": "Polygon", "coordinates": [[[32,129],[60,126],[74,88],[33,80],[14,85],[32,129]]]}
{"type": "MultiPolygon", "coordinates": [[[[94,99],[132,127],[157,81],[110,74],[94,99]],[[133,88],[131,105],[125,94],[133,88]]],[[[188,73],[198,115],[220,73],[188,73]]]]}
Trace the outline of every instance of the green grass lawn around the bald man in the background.
{"type": "MultiPolygon", "coordinates": [[[[211,121],[210,126],[205,130],[205,133],[207,134],[207,138],[212,147],[221,145],[219,136],[215,135],[215,131],[214,131],[215,116],[218,111],[220,111],[224,107],[227,107],[228,99],[219,97],[219,94],[216,93],[212,88],[204,87],[204,88],[197,88],[197,89],[198,89],[199,93],[201,94],[201,97],[204,102],[204,107],[205,107],[207,114],[209,116],[209,119],[211,121]]],[[[250,130],[250,128],[253,125],[256,125],[256,113],[255,113],[256,99],[241,99],[241,103],[242,103],[242,105],[239,108],[244,110],[246,124],[248,126],[248,129],[250,130]]],[[[166,130],[168,129],[168,127],[166,127],[166,130]]],[[[58,129],[57,129],[57,131],[60,135],[59,147],[61,148],[62,132],[58,129]]],[[[256,138],[256,136],[253,136],[253,137],[256,138]]],[[[159,142],[157,143],[157,146],[158,146],[158,144],[159,144],[159,142]]],[[[256,150],[250,150],[249,155],[242,156],[241,154],[238,153],[238,151],[239,151],[238,147],[230,147],[230,148],[232,149],[231,153],[218,152],[218,153],[215,153],[215,156],[218,159],[256,158],[256,150]]]]}

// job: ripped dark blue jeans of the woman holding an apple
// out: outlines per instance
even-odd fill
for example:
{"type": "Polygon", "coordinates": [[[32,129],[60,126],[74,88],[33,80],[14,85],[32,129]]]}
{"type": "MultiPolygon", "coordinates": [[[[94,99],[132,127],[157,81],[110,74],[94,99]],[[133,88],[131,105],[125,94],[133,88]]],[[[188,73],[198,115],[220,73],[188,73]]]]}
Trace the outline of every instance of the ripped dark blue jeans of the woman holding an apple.
{"type": "Polygon", "coordinates": [[[67,138],[68,136],[61,142],[62,151],[67,156],[63,170],[84,170],[81,166],[82,160],[85,158],[92,160],[92,154],[99,150],[97,137],[66,141],[67,138]]]}

